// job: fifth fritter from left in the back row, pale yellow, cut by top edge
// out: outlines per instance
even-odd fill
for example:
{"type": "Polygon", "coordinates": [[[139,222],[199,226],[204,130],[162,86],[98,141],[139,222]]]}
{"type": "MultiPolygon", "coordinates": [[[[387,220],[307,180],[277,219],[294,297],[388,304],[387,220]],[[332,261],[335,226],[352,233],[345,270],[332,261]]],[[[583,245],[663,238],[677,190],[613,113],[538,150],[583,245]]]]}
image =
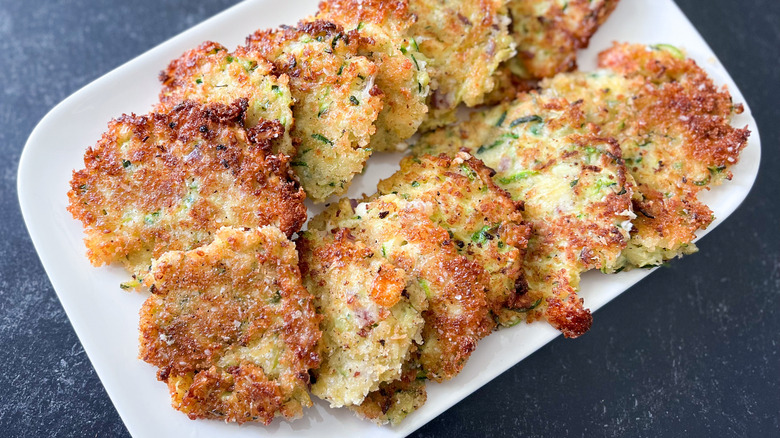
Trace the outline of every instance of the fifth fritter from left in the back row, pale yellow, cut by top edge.
{"type": "Polygon", "coordinates": [[[493,89],[493,72],[515,53],[504,0],[409,0],[416,21],[410,37],[429,60],[431,129],[455,120],[464,102],[479,105],[493,89]]]}

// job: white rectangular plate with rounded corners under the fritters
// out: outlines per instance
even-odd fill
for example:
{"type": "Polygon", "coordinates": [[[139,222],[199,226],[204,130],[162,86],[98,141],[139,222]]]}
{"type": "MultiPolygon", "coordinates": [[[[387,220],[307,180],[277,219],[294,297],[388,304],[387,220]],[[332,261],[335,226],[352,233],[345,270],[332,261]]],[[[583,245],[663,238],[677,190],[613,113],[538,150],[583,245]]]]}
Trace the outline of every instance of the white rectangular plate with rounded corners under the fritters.
{"type": "MultiPolygon", "coordinates": [[[[291,423],[277,420],[269,427],[191,421],[170,407],[167,387],[156,380],[155,369],[137,358],[138,310],[146,294],[119,289],[119,283],[126,280],[121,268],[90,266],[84,255],[81,225],[65,210],[71,172],[83,167],[85,149],[97,142],[112,117],[149,110],[160,89],[157,72],[171,59],[204,40],[234,47],[258,28],[294,24],[316,10],[317,0],[278,5],[273,0],[241,3],[87,85],[44,117],[22,154],[19,202],[33,243],[98,376],[136,438],[406,436],[558,335],[548,325],[535,323],[489,336],[460,375],[442,384],[429,384],[428,402],[396,428],[374,426],[345,409],[329,409],[320,401],[303,419],[291,423]]],[[[622,0],[590,49],[580,55],[580,67],[593,69],[596,54],[612,41],[669,43],[684,48],[718,84],[728,86],[735,102],[745,103],[712,50],[672,0],[622,0]]],[[[749,126],[752,135],[740,163],[733,168],[734,180],[703,196],[717,217],[709,230],[745,199],[758,173],[760,141],[747,105],[734,123],[749,126]]],[[[350,195],[374,193],[377,181],[398,168],[399,157],[372,157],[350,195]]],[[[596,310],[650,272],[588,273],[582,280],[581,295],[586,306],[596,310]]]]}

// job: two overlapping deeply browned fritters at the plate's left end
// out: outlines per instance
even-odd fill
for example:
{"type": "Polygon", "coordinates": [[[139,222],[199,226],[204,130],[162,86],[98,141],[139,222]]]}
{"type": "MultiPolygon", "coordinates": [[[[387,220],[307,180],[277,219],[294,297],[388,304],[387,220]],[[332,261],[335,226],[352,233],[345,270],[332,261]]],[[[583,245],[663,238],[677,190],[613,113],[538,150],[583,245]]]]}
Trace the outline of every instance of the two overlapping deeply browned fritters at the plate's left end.
{"type": "Polygon", "coordinates": [[[88,256],[124,264],[136,280],[123,287],[143,279],[152,291],[141,358],[160,368],[176,409],[266,424],[298,417],[311,405],[321,332],[288,240],[306,208],[289,157],[275,152],[285,126],[257,118],[245,128],[246,98],[165,105],[112,121],[74,172],[69,210],[85,225],[88,256]]]}

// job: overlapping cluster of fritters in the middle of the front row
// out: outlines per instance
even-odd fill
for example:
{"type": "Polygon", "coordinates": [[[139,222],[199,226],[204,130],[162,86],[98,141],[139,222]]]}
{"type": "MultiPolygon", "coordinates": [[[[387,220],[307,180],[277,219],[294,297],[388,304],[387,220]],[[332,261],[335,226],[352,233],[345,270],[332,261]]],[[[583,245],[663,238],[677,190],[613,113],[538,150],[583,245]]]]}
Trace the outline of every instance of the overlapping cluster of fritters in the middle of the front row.
{"type": "MultiPolygon", "coordinates": [[[[408,158],[376,195],[312,219],[299,243],[304,284],[324,316],[316,395],[355,406],[417,376],[449,379],[493,330],[495,312],[518,301],[529,228],[491,174],[468,154],[408,158]]],[[[389,416],[392,406],[378,417],[356,409],[397,422],[424,401],[419,386],[413,393],[389,416]]]]}

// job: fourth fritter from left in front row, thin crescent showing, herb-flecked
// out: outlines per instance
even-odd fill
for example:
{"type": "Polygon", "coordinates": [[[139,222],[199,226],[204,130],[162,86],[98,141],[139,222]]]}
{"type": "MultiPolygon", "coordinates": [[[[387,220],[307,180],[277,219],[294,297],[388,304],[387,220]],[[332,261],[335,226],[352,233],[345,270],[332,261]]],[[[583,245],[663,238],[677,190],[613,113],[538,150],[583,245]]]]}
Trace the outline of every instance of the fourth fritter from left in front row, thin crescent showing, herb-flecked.
{"type": "Polygon", "coordinates": [[[377,192],[437,206],[431,218],[447,229],[460,254],[489,274],[487,300],[497,316],[502,309],[524,307],[522,264],[531,229],[523,222],[523,204],[499,188],[493,174],[465,153],[455,159],[407,157],[398,172],[379,183],[377,192]]]}

